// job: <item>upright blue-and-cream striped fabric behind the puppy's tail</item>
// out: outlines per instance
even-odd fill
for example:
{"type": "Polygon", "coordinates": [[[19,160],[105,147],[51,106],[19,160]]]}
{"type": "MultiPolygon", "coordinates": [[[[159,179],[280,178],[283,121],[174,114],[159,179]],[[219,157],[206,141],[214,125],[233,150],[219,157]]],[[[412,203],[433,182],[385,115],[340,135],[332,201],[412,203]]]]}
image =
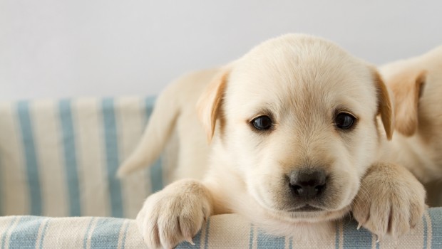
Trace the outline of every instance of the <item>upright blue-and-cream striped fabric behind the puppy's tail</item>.
{"type": "Polygon", "coordinates": [[[160,162],[115,178],[153,97],[0,103],[0,215],[134,218],[163,188],[160,162]]]}

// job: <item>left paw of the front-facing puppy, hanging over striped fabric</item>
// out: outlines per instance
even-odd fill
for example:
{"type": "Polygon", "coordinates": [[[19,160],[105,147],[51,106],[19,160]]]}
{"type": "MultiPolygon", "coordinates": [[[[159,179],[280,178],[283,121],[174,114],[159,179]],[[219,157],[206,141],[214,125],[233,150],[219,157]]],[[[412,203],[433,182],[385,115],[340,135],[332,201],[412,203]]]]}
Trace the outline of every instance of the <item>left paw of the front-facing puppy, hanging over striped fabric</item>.
{"type": "Polygon", "coordinates": [[[192,242],[202,223],[212,213],[211,197],[204,185],[194,180],[170,184],[145,201],[136,218],[148,248],[173,248],[192,242]]]}

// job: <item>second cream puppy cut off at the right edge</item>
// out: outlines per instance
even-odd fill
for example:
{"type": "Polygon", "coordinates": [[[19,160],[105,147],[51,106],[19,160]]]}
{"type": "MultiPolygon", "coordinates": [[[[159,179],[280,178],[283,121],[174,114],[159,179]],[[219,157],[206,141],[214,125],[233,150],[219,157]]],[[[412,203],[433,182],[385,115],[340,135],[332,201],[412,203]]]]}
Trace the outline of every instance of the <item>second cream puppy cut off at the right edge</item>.
{"type": "MultiPolygon", "coordinates": [[[[384,65],[380,71],[393,93],[398,131],[389,144],[391,148],[386,150],[390,153],[383,157],[405,166],[425,184],[441,181],[442,46],[415,58],[384,65]]],[[[429,201],[433,205],[442,204],[434,198],[429,201]]]]}

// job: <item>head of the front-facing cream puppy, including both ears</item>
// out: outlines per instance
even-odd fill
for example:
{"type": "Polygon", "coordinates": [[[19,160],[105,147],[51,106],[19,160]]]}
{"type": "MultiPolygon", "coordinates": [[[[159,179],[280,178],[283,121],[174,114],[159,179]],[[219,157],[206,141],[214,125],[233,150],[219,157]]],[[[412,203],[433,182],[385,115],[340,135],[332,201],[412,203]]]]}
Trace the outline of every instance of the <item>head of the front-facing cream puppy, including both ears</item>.
{"type": "Polygon", "coordinates": [[[376,70],[312,36],[252,49],[215,78],[199,109],[207,136],[217,130],[217,149],[247,192],[294,221],[349,211],[379,139],[392,134],[389,95],[376,70]]]}

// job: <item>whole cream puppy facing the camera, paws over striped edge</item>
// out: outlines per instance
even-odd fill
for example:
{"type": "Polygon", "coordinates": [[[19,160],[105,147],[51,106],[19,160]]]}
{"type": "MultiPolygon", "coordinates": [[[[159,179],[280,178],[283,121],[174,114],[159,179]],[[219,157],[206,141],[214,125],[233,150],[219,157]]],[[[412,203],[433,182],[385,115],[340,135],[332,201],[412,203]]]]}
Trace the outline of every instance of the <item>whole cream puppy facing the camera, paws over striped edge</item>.
{"type": "Polygon", "coordinates": [[[192,84],[185,101],[200,95],[200,134],[211,142],[210,158],[199,157],[202,180],[175,181],[145,201],[137,222],[150,247],[192,242],[203,221],[220,213],[240,213],[269,233],[295,239],[326,235],[349,211],[379,236],[402,235],[421,218],[423,186],[403,167],[380,161],[394,124],[379,74],[313,36],[274,38],[166,90],[120,175],[153,161],[175,122],[188,122],[178,122],[178,129],[190,129],[180,135],[197,134],[195,110],[182,106],[185,97],[168,99],[172,89],[192,84]],[[196,88],[209,78],[200,94],[196,88]],[[161,105],[173,111],[160,113],[161,105]],[[177,120],[182,115],[195,120],[177,120]]]}

